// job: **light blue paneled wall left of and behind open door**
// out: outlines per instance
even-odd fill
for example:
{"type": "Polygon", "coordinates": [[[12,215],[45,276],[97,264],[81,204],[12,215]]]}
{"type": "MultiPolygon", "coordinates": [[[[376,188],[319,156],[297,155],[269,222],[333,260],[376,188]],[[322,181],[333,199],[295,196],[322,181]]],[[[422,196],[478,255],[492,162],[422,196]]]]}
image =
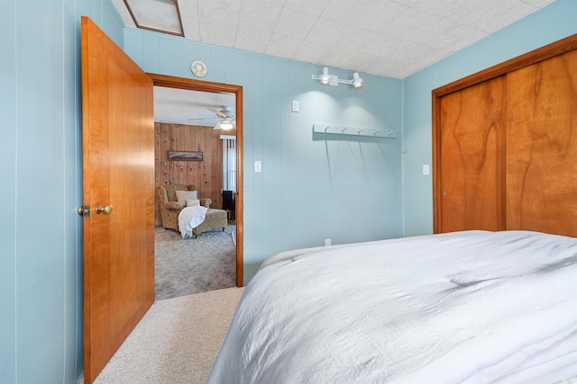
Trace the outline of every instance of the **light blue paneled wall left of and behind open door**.
{"type": "Polygon", "coordinates": [[[80,15],[119,45],[107,0],[3,0],[0,383],[82,372],[80,15]]]}

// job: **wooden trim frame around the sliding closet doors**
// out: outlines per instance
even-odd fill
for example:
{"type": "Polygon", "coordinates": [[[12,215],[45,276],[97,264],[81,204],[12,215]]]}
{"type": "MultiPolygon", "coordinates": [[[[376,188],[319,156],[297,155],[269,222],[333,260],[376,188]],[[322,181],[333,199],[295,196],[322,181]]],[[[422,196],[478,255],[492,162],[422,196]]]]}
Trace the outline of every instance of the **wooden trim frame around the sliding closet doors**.
{"type": "Polygon", "coordinates": [[[507,75],[508,72],[530,66],[547,58],[553,58],[573,49],[577,49],[577,33],[433,90],[433,233],[440,233],[441,230],[441,201],[443,198],[441,192],[441,98],[463,88],[507,75]]]}

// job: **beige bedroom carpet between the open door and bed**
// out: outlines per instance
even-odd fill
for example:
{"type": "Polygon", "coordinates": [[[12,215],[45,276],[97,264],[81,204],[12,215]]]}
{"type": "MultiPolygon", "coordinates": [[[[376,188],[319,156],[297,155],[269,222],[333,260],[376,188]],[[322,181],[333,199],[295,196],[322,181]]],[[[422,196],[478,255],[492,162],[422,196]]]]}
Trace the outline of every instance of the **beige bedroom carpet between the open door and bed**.
{"type": "Polygon", "coordinates": [[[205,383],[243,288],[156,301],[94,381],[205,383]]]}

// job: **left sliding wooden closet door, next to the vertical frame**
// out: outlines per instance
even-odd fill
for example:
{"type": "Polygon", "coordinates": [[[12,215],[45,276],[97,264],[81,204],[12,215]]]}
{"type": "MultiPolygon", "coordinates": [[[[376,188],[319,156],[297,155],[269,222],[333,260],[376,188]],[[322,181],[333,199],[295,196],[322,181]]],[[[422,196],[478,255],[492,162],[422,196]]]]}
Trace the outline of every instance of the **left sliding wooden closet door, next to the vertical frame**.
{"type": "Polygon", "coordinates": [[[440,232],[506,226],[505,95],[500,76],[441,99],[440,232]]]}

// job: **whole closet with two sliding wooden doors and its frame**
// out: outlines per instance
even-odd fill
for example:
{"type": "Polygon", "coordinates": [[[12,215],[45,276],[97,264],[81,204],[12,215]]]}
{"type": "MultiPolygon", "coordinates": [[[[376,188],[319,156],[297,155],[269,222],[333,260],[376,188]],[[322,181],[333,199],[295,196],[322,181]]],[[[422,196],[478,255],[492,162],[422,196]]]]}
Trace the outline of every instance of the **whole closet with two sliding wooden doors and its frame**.
{"type": "Polygon", "coordinates": [[[433,91],[435,233],[577,237],[577,35],[433,91]]]}

